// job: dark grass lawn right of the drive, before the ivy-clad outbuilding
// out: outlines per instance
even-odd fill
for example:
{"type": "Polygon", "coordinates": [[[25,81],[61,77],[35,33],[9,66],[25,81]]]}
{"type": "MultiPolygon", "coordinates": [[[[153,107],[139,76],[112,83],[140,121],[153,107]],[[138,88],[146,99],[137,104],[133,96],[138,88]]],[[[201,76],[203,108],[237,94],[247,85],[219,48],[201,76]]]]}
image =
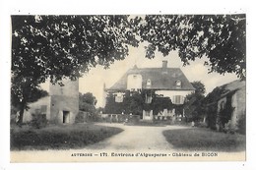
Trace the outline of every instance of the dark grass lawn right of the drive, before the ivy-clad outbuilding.
{"type": "Polygon", "coordinates": [[[180,150],[243,151],[245,136],[224,134],[209,129],[193,128],[163,131],[163,136],[174,148],[180,150]]]}

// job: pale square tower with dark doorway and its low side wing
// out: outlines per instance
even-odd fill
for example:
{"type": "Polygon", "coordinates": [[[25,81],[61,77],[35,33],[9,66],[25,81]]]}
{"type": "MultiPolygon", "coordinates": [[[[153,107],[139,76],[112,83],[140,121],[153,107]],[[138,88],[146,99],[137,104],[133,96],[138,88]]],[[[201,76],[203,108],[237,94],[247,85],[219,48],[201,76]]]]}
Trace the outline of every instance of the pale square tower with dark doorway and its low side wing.
{"type": "Polygon", "coordinates": [[[49,123],[75,123],[79,112],[79,81],[63,80],[63,85],[49,85],[48,96],[29,105],[24,122],[32,121],[32,114],[44,114],[49,123]]]}

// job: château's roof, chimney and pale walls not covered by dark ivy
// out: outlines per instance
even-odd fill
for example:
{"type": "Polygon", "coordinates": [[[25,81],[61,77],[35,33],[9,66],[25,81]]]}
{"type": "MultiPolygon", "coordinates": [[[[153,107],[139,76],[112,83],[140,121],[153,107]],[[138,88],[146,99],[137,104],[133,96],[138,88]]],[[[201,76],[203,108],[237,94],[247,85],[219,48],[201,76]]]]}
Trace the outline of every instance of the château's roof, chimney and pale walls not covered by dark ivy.
{"type": "MultiPolygon", "coordinates": [[[[168,68],[167,61],[163,61],[161,68],[138,68],[134,66],[105,91],[112,93],[115,96],[115,102],[118,103],[123,102],[127,91],[131,93],[144,91],[145,103],[150,104],[154,100],[152,93],[155,93],[162,98],[169,98],[174,105],[182,105],[185,96],[194,92],[194,87],[179,68],[168,68]]],[[[158,115],[166,117],[175,114],[174,108],[162,108],[159,113],[154,113],[152,109],[143,109],[141,113],[142,119],[146,121],[152,121],[158,115]]]]}

